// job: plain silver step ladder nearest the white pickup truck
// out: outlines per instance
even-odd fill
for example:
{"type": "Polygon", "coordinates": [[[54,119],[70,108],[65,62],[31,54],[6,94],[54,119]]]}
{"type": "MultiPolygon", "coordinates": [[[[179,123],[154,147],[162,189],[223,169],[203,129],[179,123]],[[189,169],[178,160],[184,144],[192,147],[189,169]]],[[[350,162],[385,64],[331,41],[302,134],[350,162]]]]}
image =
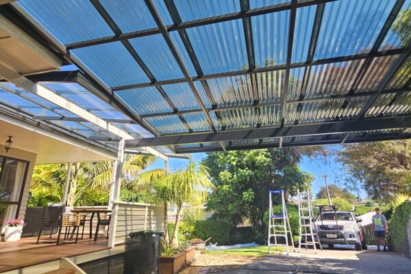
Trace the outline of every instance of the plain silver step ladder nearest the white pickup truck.
{"type": "Polygon", "coordinates": [[[298,239],[298,252],[301,250],[301,245],[308,247],[312,245],[314,247],[314,252],[316,253],[316,244],[319,245],[321,251],[323,247],[321,246],[319,235],[315,229],[314,223],[314,212],[311,206],[311,195],[310,189],[300,192],[297,189],[297,199],[298,199],[298,222],[299,222],[299,239],[298,239]],[[310,240],[308,238],[310,237],[310,240]],[[302,240],[304,239],[304,242],[302,240]]]}

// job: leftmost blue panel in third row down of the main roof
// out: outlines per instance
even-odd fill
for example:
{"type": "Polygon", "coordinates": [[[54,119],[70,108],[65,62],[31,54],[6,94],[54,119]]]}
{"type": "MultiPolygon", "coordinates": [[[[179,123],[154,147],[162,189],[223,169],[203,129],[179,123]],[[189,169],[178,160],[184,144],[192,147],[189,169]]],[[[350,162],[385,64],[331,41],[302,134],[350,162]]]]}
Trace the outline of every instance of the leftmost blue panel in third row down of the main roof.
{"type": "Polygon", "coordinates": [[[134,88],[132,90],[117,90],[114,93],[137,114],[173,111],[173,108],[170,107],[166,99],[154,86],[134,88]]]}

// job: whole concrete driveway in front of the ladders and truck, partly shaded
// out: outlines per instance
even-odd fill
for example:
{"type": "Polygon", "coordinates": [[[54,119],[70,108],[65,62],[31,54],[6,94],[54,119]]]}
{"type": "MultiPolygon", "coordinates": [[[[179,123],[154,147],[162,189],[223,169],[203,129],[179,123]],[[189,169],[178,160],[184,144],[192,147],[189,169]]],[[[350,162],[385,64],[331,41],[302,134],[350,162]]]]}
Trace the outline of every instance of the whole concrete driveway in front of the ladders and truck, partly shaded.
{"type": "Polygon", "coordinates": [[[290,256],[275,254],[262,258],[202,253],[196,256],[196,262],[182,274],[284,274],[295,271],[294,264],[299,266],[298,273],[411,274],[411,259],[394,252],[378,252],[373,247],[367,251],[355,251],[353,247],[341,246],[317,251],[317,254],[309,249],[291,252],[290,256]]]}

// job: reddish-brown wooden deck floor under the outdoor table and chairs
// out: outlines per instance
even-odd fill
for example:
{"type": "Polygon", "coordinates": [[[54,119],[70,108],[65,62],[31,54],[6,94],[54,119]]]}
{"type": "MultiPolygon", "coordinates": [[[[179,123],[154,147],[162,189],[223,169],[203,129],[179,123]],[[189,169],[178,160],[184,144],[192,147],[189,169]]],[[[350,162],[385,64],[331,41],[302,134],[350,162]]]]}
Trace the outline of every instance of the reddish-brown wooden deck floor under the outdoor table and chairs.
{"type": "MultiPolygon", "coordinates": [[[[48,237],[44,236],[44,239],[48,237]]],[[[0,273],[109,249],[105,236],[100,236],[97,242],[85,237],[77,243],[61,242],[60,245],[46,241],[36,245],[36,240],[36,237],[29,237],[21,238],[18,242],[0,242],[0,273]]]]}

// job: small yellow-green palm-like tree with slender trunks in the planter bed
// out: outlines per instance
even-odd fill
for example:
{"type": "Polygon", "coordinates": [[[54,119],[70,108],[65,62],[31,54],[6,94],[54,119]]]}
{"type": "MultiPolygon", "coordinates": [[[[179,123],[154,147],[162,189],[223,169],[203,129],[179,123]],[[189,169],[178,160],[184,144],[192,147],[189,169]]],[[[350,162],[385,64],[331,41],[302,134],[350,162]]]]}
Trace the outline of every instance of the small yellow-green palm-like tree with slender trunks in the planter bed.
{"type": "Polygon", "coordinates": [[[183,204],[199,207],[207,200],[208,192],[214,188],[210,182],[208,168],[202,164],[190,160],[185,169],[175,171],[153,184],[155,195],[164,205],[164,227],[166,240],[168,239],[166,224],[166,208],[168,203],[177,206],[174,232],[171,245],[178,247],[178,225],[182,213],[183,204]]]}

